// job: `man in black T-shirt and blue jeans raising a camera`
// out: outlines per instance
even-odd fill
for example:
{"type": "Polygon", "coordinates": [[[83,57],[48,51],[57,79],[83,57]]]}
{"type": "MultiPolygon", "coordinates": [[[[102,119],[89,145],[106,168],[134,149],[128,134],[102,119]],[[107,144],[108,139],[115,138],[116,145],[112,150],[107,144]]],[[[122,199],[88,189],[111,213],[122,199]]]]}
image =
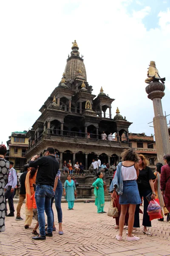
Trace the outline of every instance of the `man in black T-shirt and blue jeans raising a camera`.
{"type": "Polygon", "coordinates": [[[51,198],[54,196],[54,180],[59,170],[59,162],[54,156],[54,148],[48,147],[44,157],[34,156],[29,162],[30,167],[38,167],[36,177],[35,200],[38,211],[40,235],[32,237],[35,240],[45,240],[46,236],[53,236],[53,214],[51,211],[51,198]],[[36,161],[35,161],[36,160],[36,161]],[[47,215],[48,228],[45,233],[45,215],[47,215]]]}

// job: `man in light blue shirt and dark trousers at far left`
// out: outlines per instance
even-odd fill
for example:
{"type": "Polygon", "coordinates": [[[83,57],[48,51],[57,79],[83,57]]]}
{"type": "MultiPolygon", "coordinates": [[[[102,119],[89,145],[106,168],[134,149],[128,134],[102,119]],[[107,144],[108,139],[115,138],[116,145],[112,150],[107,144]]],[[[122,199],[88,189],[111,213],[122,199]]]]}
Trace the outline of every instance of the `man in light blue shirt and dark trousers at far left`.
{"type": "MultiPolygon", "coordinates": [[[[5,186],[5,199],[8,199],[9,204],[9,214],[7,215],[7,207],[6,207],[6,216],[7,217],[13,217],[14,216],[14,188],[17,186],[17,172],[13,168],[14,162],[9,161],[9,173],[8,173],[8,183],[5,186]]],[[[5,200],[6,203],[6,200],[5,200]]]]}

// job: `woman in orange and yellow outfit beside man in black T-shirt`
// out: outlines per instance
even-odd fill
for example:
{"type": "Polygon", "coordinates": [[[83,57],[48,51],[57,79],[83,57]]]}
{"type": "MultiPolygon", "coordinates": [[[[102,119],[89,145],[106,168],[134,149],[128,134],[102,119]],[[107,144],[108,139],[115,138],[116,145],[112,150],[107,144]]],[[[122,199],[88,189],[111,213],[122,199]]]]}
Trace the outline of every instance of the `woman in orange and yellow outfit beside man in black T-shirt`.
{"type": "Polygon", "coordinates": [[[25,229],[27,229],[29,226],[31,226],[32,223],[32,216],[33,216],[33,201],[31,200],[31,195],[34,194],[34,186],[33,184],[36,181],[37,176],[37,168],[30,168],[31,171],[29,171],[26,175],[26,221],[25,221],[25,229]]]}

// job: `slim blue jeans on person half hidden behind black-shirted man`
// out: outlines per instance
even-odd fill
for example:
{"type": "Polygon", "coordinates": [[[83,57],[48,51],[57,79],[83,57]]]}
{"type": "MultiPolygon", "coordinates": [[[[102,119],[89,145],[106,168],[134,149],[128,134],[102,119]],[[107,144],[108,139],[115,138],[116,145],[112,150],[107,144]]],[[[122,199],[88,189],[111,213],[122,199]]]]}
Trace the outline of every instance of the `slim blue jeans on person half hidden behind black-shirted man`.
{"type": "Polygon", "coordinates": [[[58,180],[56,192],[55,192],[55,205],[58,215],[58,223],[62,222],[62,209],[61,209],[61,198],[62,198],[62,183],[58,180]]]}

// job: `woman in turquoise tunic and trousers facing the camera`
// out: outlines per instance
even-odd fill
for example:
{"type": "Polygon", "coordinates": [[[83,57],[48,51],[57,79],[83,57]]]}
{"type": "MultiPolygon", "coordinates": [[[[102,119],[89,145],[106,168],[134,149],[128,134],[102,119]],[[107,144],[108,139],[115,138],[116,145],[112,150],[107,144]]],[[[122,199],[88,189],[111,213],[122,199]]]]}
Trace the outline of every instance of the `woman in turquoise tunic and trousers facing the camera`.
{"type": "Polygon", "coordinates": [[[76,186],[74,180],[71,180],[71,175],[67,175],[67,180],[64,183],[64,196],[68,201],[68,210],[73,210],[74,207],[74,195],[76,194],[76,186]]]}

